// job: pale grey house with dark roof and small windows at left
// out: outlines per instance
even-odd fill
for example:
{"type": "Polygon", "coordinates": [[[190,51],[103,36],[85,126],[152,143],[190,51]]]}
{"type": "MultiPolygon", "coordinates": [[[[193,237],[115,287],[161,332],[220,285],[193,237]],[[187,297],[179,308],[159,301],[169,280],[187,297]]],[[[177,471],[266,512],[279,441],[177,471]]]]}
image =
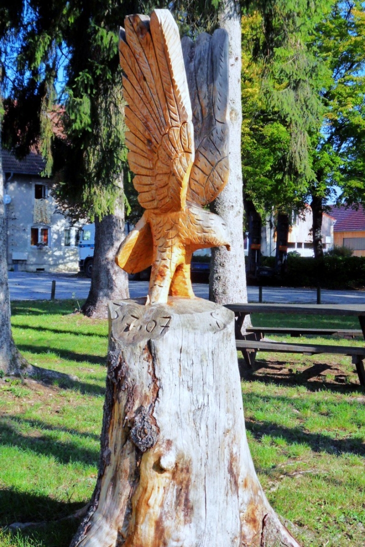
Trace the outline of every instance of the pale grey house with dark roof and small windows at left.
{"type": "Polygon", "coordinates": [[[22,160],[2,150],[8,269],[78,271],[78,234],[50,194],[51,180],[41,177],[42,156],[22,160]]]}

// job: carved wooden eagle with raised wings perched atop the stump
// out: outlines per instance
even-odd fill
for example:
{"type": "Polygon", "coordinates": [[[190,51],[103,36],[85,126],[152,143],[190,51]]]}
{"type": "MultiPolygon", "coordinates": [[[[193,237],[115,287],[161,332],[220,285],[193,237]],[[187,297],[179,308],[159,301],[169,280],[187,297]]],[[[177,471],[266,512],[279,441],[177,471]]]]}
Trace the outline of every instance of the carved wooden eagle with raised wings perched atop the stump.
{"type": "Polygon", "coordinates": [[[170,11],[157,9],[126,17],[119,53],[128,161],[146,211],[115,261],[130,274],[152,265],[147,304],[194,298],[193,252],[229,249],[223,220],[203,208],[228,180],[228,35],[181,42],[170,11]]]}

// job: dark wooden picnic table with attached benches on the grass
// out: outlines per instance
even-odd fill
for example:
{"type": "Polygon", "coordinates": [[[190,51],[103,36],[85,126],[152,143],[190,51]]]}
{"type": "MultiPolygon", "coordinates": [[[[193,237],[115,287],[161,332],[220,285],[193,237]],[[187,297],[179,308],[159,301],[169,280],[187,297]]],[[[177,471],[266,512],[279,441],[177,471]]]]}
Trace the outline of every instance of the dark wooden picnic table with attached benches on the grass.
{"type": "Polygon", "coordinates": [[[252,366],[258,351],[280,352],[280,353],[303,353],[314,355],[320,353],[332,353],[348,355],[356,366],[356,371],[361,383],[365,388],[365,359],[364,346],[338,346],[331,344],[300,344],[297,342],[276,342],[265,339],[265,333],[289,334],[291,336],[301,335],[332,335],[338,334],[343,337],[362,336],[365,339],[365,305],[346,304],[227,304],[229,310],[235,313],[235,338],[236,348],[242,352],[245,362],[252,366]],[[251,313],[283,313],[291,315],[322,315],[322,316],[356,316],[360,323],[360,329],[308,329],[301,327],[249,327],[244,333],[245,317],[251,313]]]}

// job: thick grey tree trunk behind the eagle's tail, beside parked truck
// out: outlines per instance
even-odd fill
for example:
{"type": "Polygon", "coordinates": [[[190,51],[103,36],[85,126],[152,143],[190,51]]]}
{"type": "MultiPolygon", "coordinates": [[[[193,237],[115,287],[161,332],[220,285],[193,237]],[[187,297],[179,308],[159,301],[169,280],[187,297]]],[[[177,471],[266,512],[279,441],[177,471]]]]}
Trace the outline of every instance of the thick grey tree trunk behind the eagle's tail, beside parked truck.
{"type": "Polygon", "coordinates": [[[124,240],[123,193],[113,214],[95,218],[95,249],[88,298],[82,307],[88,317],[106,318],[109,300],[129,297],[128,274],[115,264],[121,241],[124,240]]]}

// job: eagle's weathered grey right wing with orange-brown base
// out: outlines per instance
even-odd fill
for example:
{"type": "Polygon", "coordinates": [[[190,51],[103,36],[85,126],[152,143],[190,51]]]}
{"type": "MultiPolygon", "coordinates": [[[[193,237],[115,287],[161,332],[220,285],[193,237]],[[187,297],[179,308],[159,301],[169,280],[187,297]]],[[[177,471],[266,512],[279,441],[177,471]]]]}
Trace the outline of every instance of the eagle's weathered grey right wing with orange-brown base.
{"type": "Polygon", "coordinates": [[[228,181],[228,34],[202,33],[182,39],[193,109],[195,160],[187,200],[204,206],[228,181]]]}

